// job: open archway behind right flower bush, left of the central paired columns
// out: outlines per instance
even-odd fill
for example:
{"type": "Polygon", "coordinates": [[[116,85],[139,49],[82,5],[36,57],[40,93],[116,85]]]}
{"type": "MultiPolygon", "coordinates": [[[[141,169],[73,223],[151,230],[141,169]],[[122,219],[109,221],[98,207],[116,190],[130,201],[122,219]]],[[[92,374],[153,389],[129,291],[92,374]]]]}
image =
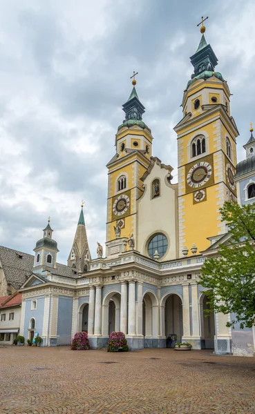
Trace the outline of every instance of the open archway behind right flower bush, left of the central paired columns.
{"type": "Polygon", "coordinates": [[[109,292],[102,302],[102,335],[120,331],[120,293],[109,292]]]}

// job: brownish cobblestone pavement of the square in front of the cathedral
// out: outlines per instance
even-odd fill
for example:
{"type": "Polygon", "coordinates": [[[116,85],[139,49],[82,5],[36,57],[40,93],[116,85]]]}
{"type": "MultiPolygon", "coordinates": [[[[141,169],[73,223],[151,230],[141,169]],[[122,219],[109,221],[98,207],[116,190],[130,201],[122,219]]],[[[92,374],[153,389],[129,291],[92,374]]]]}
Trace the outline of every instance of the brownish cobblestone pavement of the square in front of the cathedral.
{"type": "Polygon", "coordinates": [[[255,413],[255,358],[0,348],[0,413],[255,413]]]}

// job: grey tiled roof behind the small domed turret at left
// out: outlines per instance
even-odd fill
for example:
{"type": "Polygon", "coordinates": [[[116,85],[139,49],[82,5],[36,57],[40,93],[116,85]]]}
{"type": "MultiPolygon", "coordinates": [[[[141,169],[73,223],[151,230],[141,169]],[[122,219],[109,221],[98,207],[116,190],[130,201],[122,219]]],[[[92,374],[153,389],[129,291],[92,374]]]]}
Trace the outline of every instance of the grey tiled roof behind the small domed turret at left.
{"type": "MultiPolygon", "coordinates": [[[[8,284],[11,284],[18,290],[32,273],[34,256],[13,250],[12,248],[0,246],[0,260],[8,284]]],[[[57,263],[57,268],[53,269],[52,273],[59,276],[77,277],[73,268],[61,263],[57,263]]]]}

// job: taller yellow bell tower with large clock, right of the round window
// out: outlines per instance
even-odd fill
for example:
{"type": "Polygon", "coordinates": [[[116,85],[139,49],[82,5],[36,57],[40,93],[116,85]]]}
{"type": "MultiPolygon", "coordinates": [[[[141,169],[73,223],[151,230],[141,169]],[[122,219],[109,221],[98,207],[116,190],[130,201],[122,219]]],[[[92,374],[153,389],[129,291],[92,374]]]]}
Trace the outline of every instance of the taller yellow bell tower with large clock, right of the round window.
{"type": "MultiPolygon", "coordinates": [[[[193,243],[198,251],[209,247],[208,238],[225,233],[219,208],[236,200],[234,174],[238,130],[230,112],[230,90],[218,59],[202,37],[191,56],[193,74],[182,98],[183,117],[178,134],[178,206],[180,256],[193,243]]],[[[199,26],[198,25],[198,26],[199,26]]]]}

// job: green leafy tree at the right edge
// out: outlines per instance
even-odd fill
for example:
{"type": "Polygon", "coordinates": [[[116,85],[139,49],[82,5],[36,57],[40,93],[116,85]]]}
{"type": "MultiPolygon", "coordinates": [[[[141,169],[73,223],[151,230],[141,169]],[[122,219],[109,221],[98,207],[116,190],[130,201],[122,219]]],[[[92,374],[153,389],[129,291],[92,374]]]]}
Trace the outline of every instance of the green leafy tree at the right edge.
{"type": "Polygon", "coordinates": [[[205,260],[200,284],[207,291],[211,311],[234,313],[227,326],[240,323],[249,328],[255,322],[255,204],[239,206],[225,202],[220,208],[229,235],[220,244],[217,257],[205,260]]]}

